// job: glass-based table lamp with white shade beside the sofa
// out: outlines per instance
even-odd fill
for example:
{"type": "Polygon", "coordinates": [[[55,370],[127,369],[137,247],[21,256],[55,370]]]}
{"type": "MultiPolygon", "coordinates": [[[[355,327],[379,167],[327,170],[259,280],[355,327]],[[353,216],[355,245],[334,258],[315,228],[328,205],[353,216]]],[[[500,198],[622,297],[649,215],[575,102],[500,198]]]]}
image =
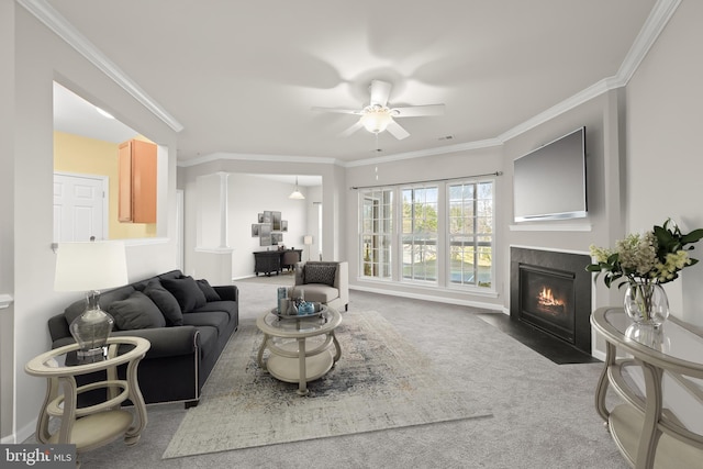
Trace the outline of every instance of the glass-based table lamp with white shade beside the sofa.
{"type": "Polygon", "coordinates": [[[104,356],[112,332],[112,316],[100,309],[100,290],[127,283],[123,243],[62,243],[56,256],[54,290],[85,291],[86,310],[70,323],[69,331],[79,345],[80,361],[104,356]]]}

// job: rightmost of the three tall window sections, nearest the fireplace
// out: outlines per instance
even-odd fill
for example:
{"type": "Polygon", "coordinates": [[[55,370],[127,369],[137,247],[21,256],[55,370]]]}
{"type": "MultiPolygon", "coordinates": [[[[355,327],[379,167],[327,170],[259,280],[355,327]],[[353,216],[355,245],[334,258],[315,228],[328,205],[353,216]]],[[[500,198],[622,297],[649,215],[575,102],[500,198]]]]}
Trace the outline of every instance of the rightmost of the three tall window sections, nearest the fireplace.
{"type": "Polygon", "coordinates": [[[448,186],[449,283],[493,282],[493,182],[448,186]]]}

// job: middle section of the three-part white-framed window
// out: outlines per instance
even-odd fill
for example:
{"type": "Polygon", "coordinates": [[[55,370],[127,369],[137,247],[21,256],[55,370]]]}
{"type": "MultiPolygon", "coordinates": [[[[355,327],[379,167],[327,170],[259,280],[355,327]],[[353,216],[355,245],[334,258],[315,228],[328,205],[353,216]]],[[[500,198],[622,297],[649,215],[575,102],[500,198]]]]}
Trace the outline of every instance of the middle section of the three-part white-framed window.
{"type": "Polygon", "coordinates": [[[437,281],[437,187],[404,188],[403,279],[437,281]]]}

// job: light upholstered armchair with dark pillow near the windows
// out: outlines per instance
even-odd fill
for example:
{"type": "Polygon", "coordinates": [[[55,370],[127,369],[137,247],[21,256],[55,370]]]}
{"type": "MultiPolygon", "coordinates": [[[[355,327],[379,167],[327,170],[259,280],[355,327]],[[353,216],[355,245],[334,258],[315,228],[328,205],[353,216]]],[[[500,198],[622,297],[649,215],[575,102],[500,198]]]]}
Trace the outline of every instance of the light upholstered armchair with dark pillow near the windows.
{"type": "MultiPolygon", "coordinates": [[[[346,261],[316,261],[295,264],[293,295],[303,290],[305,301],[317,301],[335,310],[349,308],[349,279],[346,261]]],[[[294,297],[293,297],[294,298],[294,297]]]]}

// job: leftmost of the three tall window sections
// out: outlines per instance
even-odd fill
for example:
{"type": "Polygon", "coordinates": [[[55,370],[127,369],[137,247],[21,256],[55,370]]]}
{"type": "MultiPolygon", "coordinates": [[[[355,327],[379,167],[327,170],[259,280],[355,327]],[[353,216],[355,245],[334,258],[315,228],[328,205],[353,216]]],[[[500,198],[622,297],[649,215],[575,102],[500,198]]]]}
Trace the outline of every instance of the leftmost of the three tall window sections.
{"type": "Polygon", "coordinates": [[[391,278],[393,191],[377,189],[359,193],[361,206],[361,276],[391,278]]]}

